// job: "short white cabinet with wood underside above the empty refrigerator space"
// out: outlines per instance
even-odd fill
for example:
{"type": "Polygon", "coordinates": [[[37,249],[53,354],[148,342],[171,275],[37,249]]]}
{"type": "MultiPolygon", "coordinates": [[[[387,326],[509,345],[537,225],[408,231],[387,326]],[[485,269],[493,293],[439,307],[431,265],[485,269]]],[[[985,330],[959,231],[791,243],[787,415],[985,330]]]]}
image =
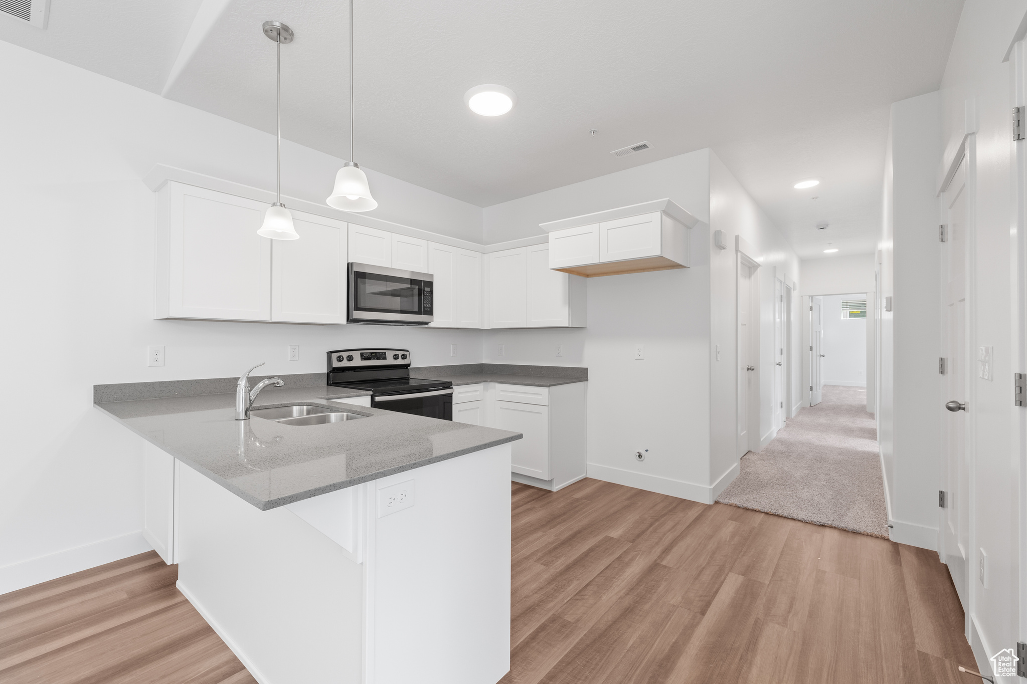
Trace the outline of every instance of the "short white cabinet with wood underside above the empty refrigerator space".
{"type": "Polygon", "coordinates": [[[549,234],[549,269],[594,278],[688,268],[699,220],[671,200],[563,218],[549,234]]]}

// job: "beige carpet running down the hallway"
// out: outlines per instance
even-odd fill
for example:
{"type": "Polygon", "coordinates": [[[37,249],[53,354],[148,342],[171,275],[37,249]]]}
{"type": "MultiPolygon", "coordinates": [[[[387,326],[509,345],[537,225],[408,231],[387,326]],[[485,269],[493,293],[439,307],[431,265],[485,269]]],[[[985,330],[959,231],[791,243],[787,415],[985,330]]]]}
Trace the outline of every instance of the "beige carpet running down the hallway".
{"type": "Polygon", "coordinates": [[[817,525],[888,537],[874,414],[862,388],[824,387],[717,499],[817,525]]]}

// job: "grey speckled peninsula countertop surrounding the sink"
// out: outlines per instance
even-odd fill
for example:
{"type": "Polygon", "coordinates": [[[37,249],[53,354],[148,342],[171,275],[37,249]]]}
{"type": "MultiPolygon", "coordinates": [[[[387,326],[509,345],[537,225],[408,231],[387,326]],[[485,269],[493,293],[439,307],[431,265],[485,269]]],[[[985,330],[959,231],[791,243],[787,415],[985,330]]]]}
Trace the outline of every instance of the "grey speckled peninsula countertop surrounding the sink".
{"type": "MultiPolygon", "coordinates": [[[[98,398],[116,396],[104,394],[113,387],[129,386],[97,386],[98,398]]],[[[264,511],[521,439],[505,430],[328,401],[368,394],[325,385],[290,388],[287,380],[287,387],[268,388],[254,403],[254,408],[303,403],[369,416],[320,426],[256,416],[236,420],[233,394],[94,405],[264,511]]]]}

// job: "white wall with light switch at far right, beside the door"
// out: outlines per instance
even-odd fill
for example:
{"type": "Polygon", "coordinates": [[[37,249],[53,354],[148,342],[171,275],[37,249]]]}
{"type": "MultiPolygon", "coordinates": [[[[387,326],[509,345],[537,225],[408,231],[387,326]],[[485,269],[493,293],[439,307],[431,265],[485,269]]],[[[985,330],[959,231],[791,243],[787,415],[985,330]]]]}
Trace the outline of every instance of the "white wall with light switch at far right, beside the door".
{"type": "MultiPolygon", "coordinates": [[[[935,166],[937,188],[959,143],[971,133],[966,138],[971,171],[968,346],[971,350],[979,346],[994,348],[995,377],[986,380],[972,372],[967,386],[968,634],[984,673],[990,671],[987,661],[990,655],[1024,638],[1021,625],[1025,615],[1017,609],[1018,603],[1020,607],[1024,605],[1019,566],[1022,561],[1018,560],[1018,551],[1020,559],[1025,551],[1020,536],[1024,521],[1019,508],[1023,506],[1019,496],[1024,492],[1024,461],[1021,444],[1013,439],[1018,432],[1022,434],[1024,409],[1015,407],[1011,400],[1012,373],[1027,370],[1023,358],[1018,356],[1021,352],[1013,346],[1015,330],[1011,316],[1016,310],[1012,295],[1022,291],[1013,268],[1017,243],[1016,231],[1011,228],[1016,226],[1013,222],[1017,216],[1017,196],[1011,193],[1014,177],[1011,161],[1015,154],[1023,154],[1024,143],[1012,142],[1010,113],[1014,105],[1027,103],[1022,95],[1013,100],[1013,64],[1002,62],[1017,27],[1022,26],[1024,9],[1023,2],[1016,0],[966,0],[942,79],[945,154],[935,166]],[[978,579],[977,572],[982,549],[988,554],[987,588],[978,579]]],[[[896,173],[898,176],[898,169],[896,173]]],[[[1022,307],[1022,303],[1017,304],[1022,307]]],[[[898,329],[896,336],[898,339],[898,329]]],[[[938,398],[939,402],[945,400],[946,397],[938,398]]]]}

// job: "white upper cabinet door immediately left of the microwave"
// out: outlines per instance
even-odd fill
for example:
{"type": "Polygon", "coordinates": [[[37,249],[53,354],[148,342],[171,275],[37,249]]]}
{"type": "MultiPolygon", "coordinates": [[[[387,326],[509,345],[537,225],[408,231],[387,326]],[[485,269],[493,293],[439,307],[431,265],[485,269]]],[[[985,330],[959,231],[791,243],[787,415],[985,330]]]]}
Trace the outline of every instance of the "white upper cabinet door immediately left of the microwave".
{"type": "Polygon", "coordinates": [[[271,240],[271,320],[346,322],[346,224],[293,211],[299,240],[271,240]]]}

